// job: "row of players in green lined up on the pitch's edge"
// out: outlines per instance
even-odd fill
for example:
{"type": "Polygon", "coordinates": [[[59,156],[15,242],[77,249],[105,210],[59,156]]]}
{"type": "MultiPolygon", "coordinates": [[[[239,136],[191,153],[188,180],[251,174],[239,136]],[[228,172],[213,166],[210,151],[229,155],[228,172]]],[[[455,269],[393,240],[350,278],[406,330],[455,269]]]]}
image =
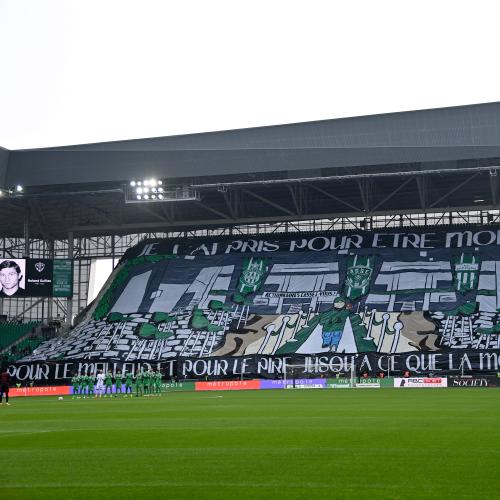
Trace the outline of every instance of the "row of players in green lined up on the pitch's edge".
{"type": "Polygon", "coordinates": [[[139,396],[159,396],[162,388],[162,374],[151,368],[147,371],[139,370],[135,375],[132,372],[118,371],[113,377],[111,371],[106,374],[99,370],[97,376],[75,374],[71,379],[73,385],[73,399],[90,397],[117,397],[118,394],[133,397],[134,392],[139,396]],[[115,393],[113,393],[113,384],[115,393]]]}

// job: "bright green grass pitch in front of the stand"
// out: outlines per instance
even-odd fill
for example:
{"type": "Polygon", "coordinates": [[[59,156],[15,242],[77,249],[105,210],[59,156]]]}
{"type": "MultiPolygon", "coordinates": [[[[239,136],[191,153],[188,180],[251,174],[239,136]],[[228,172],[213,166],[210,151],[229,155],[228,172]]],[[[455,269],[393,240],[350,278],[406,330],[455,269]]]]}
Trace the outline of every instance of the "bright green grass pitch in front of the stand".
{"type": "Polygon", "coordinates": [[[482,499],[500,391],[332,389],[12,398],[0,498],[482,499]]]}

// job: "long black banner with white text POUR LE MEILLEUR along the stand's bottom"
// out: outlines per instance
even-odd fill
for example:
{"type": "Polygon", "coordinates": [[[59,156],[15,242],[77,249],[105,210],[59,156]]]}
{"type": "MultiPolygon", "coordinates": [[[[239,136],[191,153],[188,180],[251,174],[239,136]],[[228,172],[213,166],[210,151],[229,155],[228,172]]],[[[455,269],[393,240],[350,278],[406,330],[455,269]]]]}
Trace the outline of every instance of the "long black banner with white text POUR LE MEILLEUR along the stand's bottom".
{"type": "MultiPolygon", "coordinates": [[[[433,373],[436,376],[461,373],[493,374],[500,370],[500,353],[461,350],[406,354],[321,354],[286,356],[228,356],[222,358],[172,358],[167,361],[32,361],[9,367],[15,383],[38,385],[45,382],[69,383],[73,375],[96,375],[99,370],[113,374],[136,373],[138,370],[160,370],[169,380],[248,379],[317,379],[333,376],[349,378],[370,373],[391,375],[410,372],[413,375],[433,373]],[[354,368],[354,370],[353,370],[354,368]]],[[[499,379],[500,380],[500,379],[499,379]]]]}

